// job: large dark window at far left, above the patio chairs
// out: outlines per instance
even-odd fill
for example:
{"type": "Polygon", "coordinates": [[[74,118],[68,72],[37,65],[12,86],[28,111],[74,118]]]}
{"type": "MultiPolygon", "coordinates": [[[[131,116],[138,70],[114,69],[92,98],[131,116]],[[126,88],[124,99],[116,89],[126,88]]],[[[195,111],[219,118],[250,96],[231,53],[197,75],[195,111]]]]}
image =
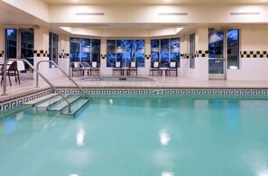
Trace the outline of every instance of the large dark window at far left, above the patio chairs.
{"type": "MultiPolygon", "coordinates": [[[[6,29],[5,30],[5,60],[23,58],[33,65],[34,47],[33,29],[6,29]]],[[[26,71],[32,69],[25,64],[26,71]]]]}

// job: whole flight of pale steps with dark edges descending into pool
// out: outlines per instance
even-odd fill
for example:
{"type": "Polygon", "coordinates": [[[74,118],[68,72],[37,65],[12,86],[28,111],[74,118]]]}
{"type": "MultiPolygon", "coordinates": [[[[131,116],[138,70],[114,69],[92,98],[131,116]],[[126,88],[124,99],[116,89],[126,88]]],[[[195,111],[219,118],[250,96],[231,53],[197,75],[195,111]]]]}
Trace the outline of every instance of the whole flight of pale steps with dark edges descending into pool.
{"type": "Polygon", "coordinates": [[[32,107],[45,108],[48,111],[59,111],[61,115],[75,116],[76,113],[84,107],[88,101],[89,97],[81,97],[78,95],[69,95],[66,99],[68,103],[59,95],[53,94],[51,96],[37,98],[34,101],[29,102],[27,105],[32,105],[32,107]]]}

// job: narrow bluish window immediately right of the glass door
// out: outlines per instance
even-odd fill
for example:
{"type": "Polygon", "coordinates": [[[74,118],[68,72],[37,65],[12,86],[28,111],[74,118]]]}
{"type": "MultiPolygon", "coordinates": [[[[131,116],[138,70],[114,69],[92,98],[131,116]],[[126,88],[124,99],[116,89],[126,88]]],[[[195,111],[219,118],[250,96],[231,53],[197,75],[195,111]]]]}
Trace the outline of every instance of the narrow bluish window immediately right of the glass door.
{"type": "Polygon", "coordinates": [[[227,30],[227,69],[239,69],[239,30],[227,30]]]}

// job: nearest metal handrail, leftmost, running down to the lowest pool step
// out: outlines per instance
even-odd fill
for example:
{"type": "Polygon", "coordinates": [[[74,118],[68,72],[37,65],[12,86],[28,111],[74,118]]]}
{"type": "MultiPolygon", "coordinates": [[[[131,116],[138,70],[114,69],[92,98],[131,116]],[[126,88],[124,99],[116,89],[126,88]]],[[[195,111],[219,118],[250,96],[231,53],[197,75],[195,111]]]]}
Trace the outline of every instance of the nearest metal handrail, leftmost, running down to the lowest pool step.
{"type": "Polygon", "coordinates": [[[3,82],[4,83],[3,83],[3,94],[2,94],[2,96],[6,96],[7,95],[6,94],[6,65],[7,65],[7,62],[8,61],[16,61],[16,60],[21,60],[21,61],[27,63],[36,72],[36,74],[40,75],[42,77],[42,79],[44,79],[51,86],[51,88],[53,88],[60,95],[60,97],[62,97],[68,103],[68,107],[70,108],[70,103],[69,103],[68,99],[66,97],[64,97],[57,88],[54,87],[54,85],[51,83],[51,81],[49,81],[48,79],[46,79],[42,75],[41,72],[39,72],[37,69],[35,69],[32,66],[32,64],[28,60],[25,60],[25,59],[9,59],[9,60],[5,60],[4,66],[3,66],[4,67],[4,74],[3,74],[3,77],[4,77],[3,82]]]}

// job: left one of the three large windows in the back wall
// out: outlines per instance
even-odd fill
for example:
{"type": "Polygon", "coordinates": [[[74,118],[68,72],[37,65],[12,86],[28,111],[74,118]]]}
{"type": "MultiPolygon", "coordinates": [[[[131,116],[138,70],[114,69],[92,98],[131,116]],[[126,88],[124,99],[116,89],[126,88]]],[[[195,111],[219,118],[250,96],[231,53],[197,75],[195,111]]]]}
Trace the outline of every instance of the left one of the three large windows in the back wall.
{"type": "Polygon", "coordinates": [[[72,61],[92,62],[100,65],[100,40],[87,38],[70,38],[69,58],[72,61]]]}

